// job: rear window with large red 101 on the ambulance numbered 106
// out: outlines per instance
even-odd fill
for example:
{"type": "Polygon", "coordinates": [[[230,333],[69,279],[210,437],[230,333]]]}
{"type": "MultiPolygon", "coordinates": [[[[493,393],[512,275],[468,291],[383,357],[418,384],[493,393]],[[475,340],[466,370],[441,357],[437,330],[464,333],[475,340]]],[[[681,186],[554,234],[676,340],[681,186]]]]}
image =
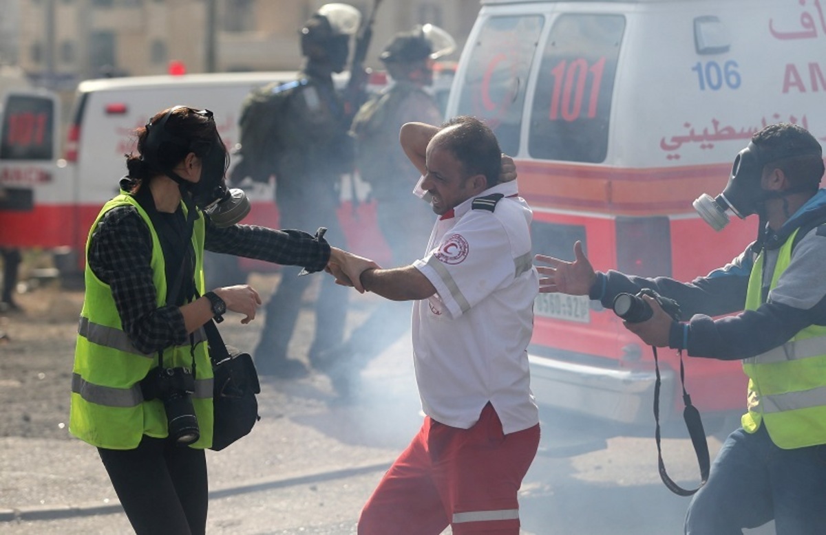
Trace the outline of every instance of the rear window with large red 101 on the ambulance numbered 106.
{"type": "Polygon", "coordinates": [[[608,119],[625,19],[561,15],[539,69],[529,153],[538,159],[600,163],[608,149],[608,119]]]}

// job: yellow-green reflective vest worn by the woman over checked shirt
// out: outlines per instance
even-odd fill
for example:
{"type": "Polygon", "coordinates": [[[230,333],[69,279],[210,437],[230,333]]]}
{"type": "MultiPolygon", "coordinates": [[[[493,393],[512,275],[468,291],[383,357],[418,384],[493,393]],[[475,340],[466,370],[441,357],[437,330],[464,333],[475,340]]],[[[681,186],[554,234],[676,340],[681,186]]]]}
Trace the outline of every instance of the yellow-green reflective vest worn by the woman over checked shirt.
{"type": "MultiPolygon", "coordinates": [[[[151,266],[157,294],[156,305],[166,305],[167,282],[164,254],[158,234],[149,215],[131,195],[123,194],[108,201],[89,230],[89,241],[99,220],[116,206],[135,206],[152,234],[151,266]]],[[[186,207],[184,206],[184,211],[186,207]]],[[[195,220],[192,244],[195,248],[195,283],[204,291],[203,244],[204,220],[195,220]]],[[[143,435],[164,438],[167,420],[161,400],[144,400],[140,391],[142,380],[150,369],[158,367],[158,353],[141,353],[131,343],[121,325],[112,289],[86,264],[86,294],[80,313],[78,341],[74,352],[72,397],[69,410],[69,432],[97,447],[133,449],[143,435]]],[[[197,329],[195,345],[195,408],[201,438],[190,446],[206,448],[212,445],[212,367],[207,350],[206,333],[197,329]]],[[[164,367],[192,368],[191,344],[164,348],[164,367]]]]}

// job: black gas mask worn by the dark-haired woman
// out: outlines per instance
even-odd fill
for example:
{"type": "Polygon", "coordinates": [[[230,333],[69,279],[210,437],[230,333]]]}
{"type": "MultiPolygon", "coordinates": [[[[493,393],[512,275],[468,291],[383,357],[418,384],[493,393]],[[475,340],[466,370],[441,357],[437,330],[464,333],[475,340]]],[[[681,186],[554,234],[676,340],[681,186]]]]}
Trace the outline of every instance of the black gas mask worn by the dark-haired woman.
{"type": "MultiPolygon", "coordinates": [[[[166,129],[166,123],[169,121],[169,116],[178,108],[180,107],[171,108],[159,121],[146,125],[148,133],[144,158],[154,168],[158,168],[169,178],[178,182],[184,201],[186,202],[189,197],[195,206],[210,216],[216,226],[235,225],[249,214],[250,206],[244,190],[230,189],[226,186],[225,174],[229,156],[226,153],[224,142],[217,130],[215,139],[211,143],[202,140],[188,142],[171,134],[166,129]],[[198,182],[188,182],[174,173],[169,165],[160,163],[159,155],[164,149],[184,149],[196,154],[201,159],[201,179],[198,182]]],[[[191,111],[207,117],[209,121],[214,121],[212,112],[209,110],[191,111]]]]}

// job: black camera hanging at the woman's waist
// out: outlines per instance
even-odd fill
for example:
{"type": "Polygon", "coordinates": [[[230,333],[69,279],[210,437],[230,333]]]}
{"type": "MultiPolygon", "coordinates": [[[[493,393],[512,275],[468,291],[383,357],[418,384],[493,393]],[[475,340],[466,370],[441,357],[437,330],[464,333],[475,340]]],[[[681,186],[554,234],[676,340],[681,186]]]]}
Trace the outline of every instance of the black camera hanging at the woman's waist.
{"type": "Polygon", "coordinates": [[[155,368],[141,382],[145,400],[159,398],[164,402],[169,438],[178,446],[188,446],[201,437],[192,393],[195,377],[185,367],[155,368]]]}

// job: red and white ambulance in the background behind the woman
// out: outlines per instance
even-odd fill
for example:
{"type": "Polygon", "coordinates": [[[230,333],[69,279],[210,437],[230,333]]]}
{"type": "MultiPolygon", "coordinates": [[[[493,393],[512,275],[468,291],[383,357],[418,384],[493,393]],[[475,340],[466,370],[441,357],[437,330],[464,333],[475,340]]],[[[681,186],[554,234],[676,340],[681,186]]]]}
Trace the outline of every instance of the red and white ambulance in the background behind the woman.
{"type": "MultiPolygon", "coordinates": [[[[154,113],[177,104],[213,111],[221,139],[230,149],[239,140],[238,117],[244,97],[272,82],[286,83],[296,72],[207,73],[130,78],[100,78],[78,84],[74,107],[59,154],[59,101],[49,92],[10,95],[3,118],[0,185],[0,244],[55,250],[62,280],[82,276],[83,250],[101,206],[118,191],[126,173],[125,154],[135,151],[135,129],[154,113]],[[17,130],[16,130],[17,128],[17,130]]],[[[336,78],[343,86],[346,78],[336,78]]],[[[377,90],[380,77],[368,89],[377,90]]],[[[230,166],[237,163],[230,159],[230,166]]],[[[231,174],[231,168],[230,173],[231,174]]],[[[244,223],[278,228],[273,202],[275,182],[244,182],[252,204],[244,223]]],[[[367,185],[344,177],[339,220],[355,252],[387,258],[389,249],[375,224],[374,206],[365,202],[367,185]],[[354,202],[355,200],[355,202],[354,202]]],[[[315,231],[315,229],[312,229],[315,231]]],[[[344,244],[339,244],[344,245],[344,244]]],[[[206,272],[216,286],[243,282],[250,271],[272,271],[272,264],[208,254],[206,272]]]]}

